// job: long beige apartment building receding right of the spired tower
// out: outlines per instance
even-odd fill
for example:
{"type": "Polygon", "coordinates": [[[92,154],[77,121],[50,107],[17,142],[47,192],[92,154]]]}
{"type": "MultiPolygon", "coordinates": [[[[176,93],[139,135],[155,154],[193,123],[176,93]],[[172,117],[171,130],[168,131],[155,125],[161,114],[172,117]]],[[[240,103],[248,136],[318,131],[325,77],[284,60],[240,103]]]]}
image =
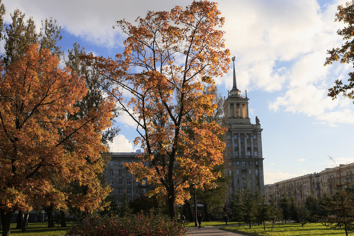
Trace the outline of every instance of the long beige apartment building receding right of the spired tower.
{"type": "Polygon", "coordinates": [[[354,188],[354,163],[347,165],[339,165],[335,168],[326,168],[320,173],[306,174],[299,177],[282,180],[266,186],[266,195],[274,198],[276,185],[280,194],[286,194],[288,197],[293,197],[297,206],[304,206],[306,197],[312,194],[317,199],[320,199],[324,193],[333,196],[336,189],[333,182],[347,183],[348,186],[354,188]],[[341,171],[339,171],[339,168],[341,171]]]}

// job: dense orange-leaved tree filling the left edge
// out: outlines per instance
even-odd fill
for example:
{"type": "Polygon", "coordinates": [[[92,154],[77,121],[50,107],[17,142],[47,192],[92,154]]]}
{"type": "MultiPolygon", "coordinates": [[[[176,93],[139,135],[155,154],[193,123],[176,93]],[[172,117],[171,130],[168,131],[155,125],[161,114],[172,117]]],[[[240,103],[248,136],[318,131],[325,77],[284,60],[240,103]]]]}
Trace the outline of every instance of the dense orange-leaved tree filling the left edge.
{"type": "Polygon", "coordinates": [[[3,236],[10,235],[15,208],[48,205],[65,209],[66,192],[53,185],[53,173],[64,185],[88,186],[85,196],[70,196],[80,209],[100,207],[109,186],[98,183],[102,172],[102,131],[112,123],[114,101],[107,98],[87,116],[69,120],[73,105],[87,93],[84,78],[58,69],[59,60],[39,45],[25,46],[24,56],[4,66],[0,76],[0,210],[3,236]],[[68,147],[70,146],[70,151],[68,147]],[[84,199],[82,199],[84,198],[84,199]],[[84,203],[84,204],[83,204],[84,203]]]}

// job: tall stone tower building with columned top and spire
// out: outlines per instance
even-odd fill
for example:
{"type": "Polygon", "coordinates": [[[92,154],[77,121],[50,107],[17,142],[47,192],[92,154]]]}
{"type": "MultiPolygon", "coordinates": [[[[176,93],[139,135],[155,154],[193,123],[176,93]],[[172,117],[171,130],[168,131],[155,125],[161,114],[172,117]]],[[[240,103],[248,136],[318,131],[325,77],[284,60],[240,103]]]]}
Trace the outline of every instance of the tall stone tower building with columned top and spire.
{"type": "Polygon", "coordinates": [[[247,91],[245,96],[236,85],[235,57],[233,87],[228,91],[224,102],[225,116],[227,116],[227,141],[230,163],[232,163],[232,191],[237,194],[238,189],[258,190],[264,194],[262,128],[256,116],[256,123],[252,124],[249,112],[247,91]]]}

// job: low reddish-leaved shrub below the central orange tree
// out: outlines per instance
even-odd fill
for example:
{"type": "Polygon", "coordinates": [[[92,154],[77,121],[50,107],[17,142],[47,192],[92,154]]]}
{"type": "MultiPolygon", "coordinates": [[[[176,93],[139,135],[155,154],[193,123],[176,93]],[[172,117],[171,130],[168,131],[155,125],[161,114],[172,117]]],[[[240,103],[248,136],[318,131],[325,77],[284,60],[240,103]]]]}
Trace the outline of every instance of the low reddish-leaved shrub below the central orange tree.
{"type": "Polygon", "coordinates": [[[186,228],[160,215],[129,215],[124,218],[88,217],[66,236],[182,236],[186,228]]]}

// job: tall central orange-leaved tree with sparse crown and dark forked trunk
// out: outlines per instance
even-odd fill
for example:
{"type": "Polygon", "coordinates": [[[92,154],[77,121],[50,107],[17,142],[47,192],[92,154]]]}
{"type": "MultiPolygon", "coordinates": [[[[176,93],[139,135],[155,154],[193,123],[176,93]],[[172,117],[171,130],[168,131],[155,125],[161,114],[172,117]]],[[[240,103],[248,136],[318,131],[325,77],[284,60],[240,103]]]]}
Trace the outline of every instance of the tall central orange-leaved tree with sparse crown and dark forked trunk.
{"type": "Polygon", "coordinates": [[[150,164],[128,166],[155,186],[148,194],[167,199],[171,219],[175,205],[190,198],[190,185],[214,188],[220,176],[213,169],[223,162],[219,137],[225,130],[200,119],[216,108],[214,96],[203,91],[215,86],[211,76],[226,73],[230,62],[219,15],[216,3],[207,1],[194,1],[185,10],[149,11],[137,18],[137,26],[117,22],[128,35],[123,55],[86,57],[114,83],[107,93],[136,122],[135,144],[144,149],[139,158],[150,164]]]}

